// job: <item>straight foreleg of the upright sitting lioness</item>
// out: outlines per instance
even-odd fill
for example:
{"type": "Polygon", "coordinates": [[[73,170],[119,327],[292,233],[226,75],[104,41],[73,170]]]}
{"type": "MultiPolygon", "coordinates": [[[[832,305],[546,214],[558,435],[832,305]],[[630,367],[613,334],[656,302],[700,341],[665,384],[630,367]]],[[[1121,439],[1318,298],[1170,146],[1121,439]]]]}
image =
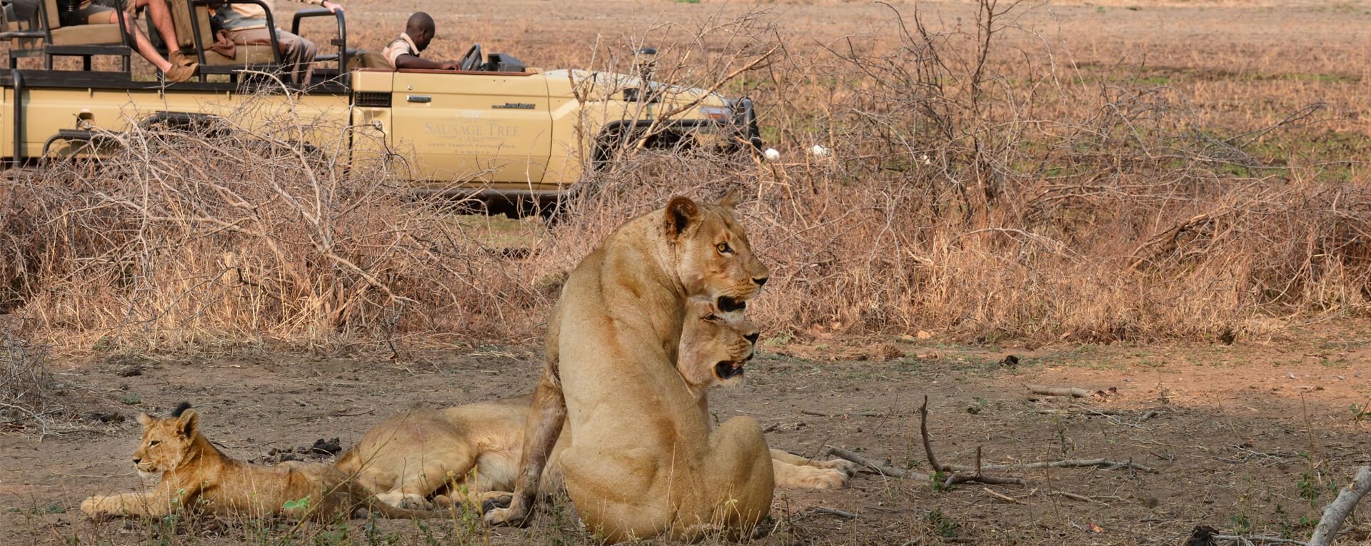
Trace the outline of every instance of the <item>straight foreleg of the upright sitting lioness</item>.
{"type": "Polygon", "coordinates": [[[548,366],[543,370],[533,399],[529,402],[528,421],[524,423],[524,451],[520,455],[520,473],[514,480],[510,506],[487,512],[487,523],[515,527],[528,524],[533,516],[533,503],[537,502],[539,479],[565,423],[566,399],[562,398],[557,368],[548,366]]]}

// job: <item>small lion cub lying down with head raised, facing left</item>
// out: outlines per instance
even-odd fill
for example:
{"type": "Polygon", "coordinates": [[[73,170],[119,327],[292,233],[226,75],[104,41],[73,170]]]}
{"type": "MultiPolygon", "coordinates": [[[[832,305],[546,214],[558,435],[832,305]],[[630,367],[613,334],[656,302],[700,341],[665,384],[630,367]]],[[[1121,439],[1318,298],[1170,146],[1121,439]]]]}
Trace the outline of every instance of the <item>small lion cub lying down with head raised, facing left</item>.
{"type": "MultiPolygon", "coordinates": [[[[200,414],[189,403],[171,417],[140,413],[138,423],[143,438],[133,465],[144,477],[160,472],[162,480],[152,492],[90,497],[81,502],[88,516],[166,516],[181,506],[203,506],[217,514],[330,520],[369,505],[370,495],[333,466],[298,461],[258,466],[219,453],[200,434],[200,414]]],[[[374,505],[388,517],[441,514],[374,505]]]]}

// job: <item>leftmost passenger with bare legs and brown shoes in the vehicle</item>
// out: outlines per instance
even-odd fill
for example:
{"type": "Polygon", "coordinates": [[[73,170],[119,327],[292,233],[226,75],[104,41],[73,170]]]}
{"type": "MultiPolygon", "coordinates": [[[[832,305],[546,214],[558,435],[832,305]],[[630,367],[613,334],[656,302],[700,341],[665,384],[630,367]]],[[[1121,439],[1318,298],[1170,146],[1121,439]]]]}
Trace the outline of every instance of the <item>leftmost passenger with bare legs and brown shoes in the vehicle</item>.
{"type": "MultiPolygon", "coordinates": [[[[162,73],[166,81],[186,81],[191,80],[192,75],[195,75],[196,63],[191,62],[189,58],[180,55],[180,51],[171,54],[171,58],[175,60],[174,63],[162,58],[162,54],[158,54],[158,49],[152,47],[152,43],[148,41],[148,37],[143,34],[143,30],[138,30],[138,25],[136,23],[134,16],[130,15],[128,11],[121,11],[118,8],[112,8],[103,4],[92,4],[90,0],[80,0],[80,3],[77,1],[78,0],[66,0],[58,4],[60,11],[59,21],[62,22],[62,26],[118,25],[119,19],[117,19],[117,16],[122,12],[125,27],[129,29],[130,34],[133,34],[133,44],[134,48],[138,49],[138,55],[143,55],[144,59],[148,59],[148,62],[152,63],[152,66],[155,66],[158,71],[162,73]]],[[[111,0],[111,1],[117,3],[118,5],[123,0],[111,0]]],[[[132,10],[143,7],[151,8],[152,23],[154,26],[156,26],[158,33],[162,34],[162,40],[163,41],[171,40],[167,41],[167,44],[177,43],[175,32],[171,26],[171,12],[167,10],[166,0],[128,0],[128,1],[129,3],[123,5],[132,10]],[[156,7],[154,7],[154,4],[156,4],[156,7]]]]}

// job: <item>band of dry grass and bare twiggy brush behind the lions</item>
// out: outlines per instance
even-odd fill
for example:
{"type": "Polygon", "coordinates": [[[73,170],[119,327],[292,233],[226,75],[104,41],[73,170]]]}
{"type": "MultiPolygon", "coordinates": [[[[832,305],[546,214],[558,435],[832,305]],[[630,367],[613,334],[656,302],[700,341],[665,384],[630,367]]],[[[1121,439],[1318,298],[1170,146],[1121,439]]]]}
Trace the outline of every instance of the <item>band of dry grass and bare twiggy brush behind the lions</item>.
{"type": "Polygon", "coordinates": [[[121,134],[100,163],[3,182],[0,306],[88,347],[531,339],[613,226],[672,193],[742,187],[775,272],[753,314],[775,333],[1227,342],[1367,309],[1359,165],[1264,148],[1339,115],[1208,115],[1182,89],[1111,82],[1127,69],[1078,63],[1024,10],[982,4],[957,27],[886,10],[823,47],[750,12],[587,47],[581,66],[622,71],[613,51],[675,37],[659,74],[707,86],[781,45],[724,86],[760,99],[786,156],[629,150],[551,228],[517,224],[515,251],[506,225],[455,221],[459,203],[410,198],[389,171],[344,178],[344,155],[293,144],[340,128],[269,112],[258,134],[121,134]]]}

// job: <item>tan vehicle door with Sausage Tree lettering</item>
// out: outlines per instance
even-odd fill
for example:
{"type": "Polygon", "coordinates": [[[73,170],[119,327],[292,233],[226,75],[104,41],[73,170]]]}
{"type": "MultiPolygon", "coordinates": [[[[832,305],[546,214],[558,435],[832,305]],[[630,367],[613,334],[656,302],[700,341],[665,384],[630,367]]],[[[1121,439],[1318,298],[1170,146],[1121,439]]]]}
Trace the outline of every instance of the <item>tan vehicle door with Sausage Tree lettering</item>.
{"type": "Polygon", "coordinates": [[[413,180],[433,189],[542,182],[553,148],[543,74],[402,70],[391,104],[392,145],[411,156],[413,180]]]}

